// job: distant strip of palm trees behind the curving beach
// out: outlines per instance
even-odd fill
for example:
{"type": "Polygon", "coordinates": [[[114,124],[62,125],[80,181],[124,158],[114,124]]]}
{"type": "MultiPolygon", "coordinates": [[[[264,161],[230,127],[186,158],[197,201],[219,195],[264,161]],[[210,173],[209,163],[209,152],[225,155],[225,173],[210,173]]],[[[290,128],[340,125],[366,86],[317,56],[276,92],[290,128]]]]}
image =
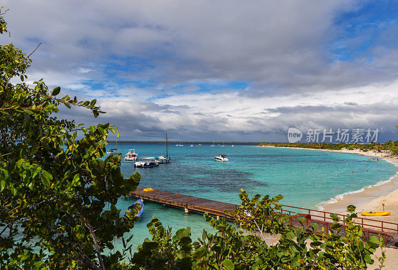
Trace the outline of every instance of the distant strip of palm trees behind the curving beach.
{"type": "Polygon", "coordinates": [[[398,140],[389,140],[385,143],[325,143],[325,142],[307,142],[307,143],[288,143],[288,142],[260,142],[260,146],[276,146],[276,147],[299,147],[299,148],[311,148],[311,149],[330,149],[330,150],[341,150],[341,149],[359,149],[364,152],[374,150],[376,152],[389,151],[392,154],[398,154],[398,140]]]}

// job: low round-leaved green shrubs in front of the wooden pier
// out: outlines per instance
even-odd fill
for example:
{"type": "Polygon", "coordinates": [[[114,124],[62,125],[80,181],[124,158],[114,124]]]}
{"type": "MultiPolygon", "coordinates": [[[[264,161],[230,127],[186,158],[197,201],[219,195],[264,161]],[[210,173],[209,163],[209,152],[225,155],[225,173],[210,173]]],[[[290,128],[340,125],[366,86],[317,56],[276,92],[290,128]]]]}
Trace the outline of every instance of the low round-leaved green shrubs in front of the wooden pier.
{"type": "MultiPolygon", "coordinates": [[[[286,224],[291,217],[280,213],[274,198],[260,195],[249,199],[241,190],[242,203],[233,213],[228,213],[233,224],[225,219],[215,220],[204,214],[206,221],[216,229],[215,234],[203,230],[202,237],[192,243],[190,228],[180,229],[172,236],[161,222],[153,217],[148,224],[152,239],[138,247],[138,252],[128,263],[131,269],[366,269],[374,264],[371,256],[383,247],[383,238],[372,237],[364,243],[362,228],[354,225],[354,206],[343,221],[346,234],[341,233],[343,223],[331,214],[332,229],[315,234],[316,223],[304,226],[304,218],[292,217],[300,228],[286,224]],[[284,224],[285,223],[285,224],[284,224]],[[240,227],[239,227],[240,226],[240,227]],[[243,230],[242,230],[243,229],[243,230]],[[279,241],[274,235],[280,235],[279,241]],[[271,241],[273,240],[273,241],[271,241]]],[[[385,254],[379,259],[383,266],[385,254]]]]}

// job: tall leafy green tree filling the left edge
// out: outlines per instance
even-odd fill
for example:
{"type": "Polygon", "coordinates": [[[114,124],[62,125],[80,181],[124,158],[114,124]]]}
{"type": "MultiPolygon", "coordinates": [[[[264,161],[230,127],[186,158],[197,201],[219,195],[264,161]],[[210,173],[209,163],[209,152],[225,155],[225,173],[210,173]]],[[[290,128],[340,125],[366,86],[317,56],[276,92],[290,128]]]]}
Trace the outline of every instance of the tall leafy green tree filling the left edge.
{"type": "Polygon", "coordinates": [[[0,269],[121,268],[125,250],[112,242],[133,227],[136,209],[121,217],[115,205],[140,175],[123,177],[121,155],[103,159],[112,126],[55,117],[60,105],[97,117],[96,100],[57,98],[61,88],[49,91],[43,80],[29,87],[30,64],[12,43],[0,46],[0,269]]]}

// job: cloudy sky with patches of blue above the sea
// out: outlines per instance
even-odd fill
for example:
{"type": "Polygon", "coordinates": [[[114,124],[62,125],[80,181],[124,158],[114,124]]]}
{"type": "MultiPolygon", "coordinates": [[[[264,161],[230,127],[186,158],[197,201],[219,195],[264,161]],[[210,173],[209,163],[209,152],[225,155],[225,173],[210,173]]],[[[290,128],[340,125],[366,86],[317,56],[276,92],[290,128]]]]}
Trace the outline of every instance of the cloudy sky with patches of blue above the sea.
{"type": "MultiPolygon", "coordinates": [[[[122,140],[287,141],[289,128],[397,140],[398,2],[2,0],[28,83],[97,99],[62,109],[122,140]]],[[[112,139],[112,135],[109,136],[112,139]]]]}

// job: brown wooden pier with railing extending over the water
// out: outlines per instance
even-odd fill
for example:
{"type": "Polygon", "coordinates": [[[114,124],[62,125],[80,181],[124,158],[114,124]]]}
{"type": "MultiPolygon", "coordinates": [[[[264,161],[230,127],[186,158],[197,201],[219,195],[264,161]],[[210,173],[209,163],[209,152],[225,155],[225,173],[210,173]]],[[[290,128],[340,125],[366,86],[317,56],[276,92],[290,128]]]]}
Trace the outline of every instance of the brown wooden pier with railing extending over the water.
{"type": "MultiPolygon", "coordinates": [[[[138,187],[135,191],[130,192],[130,196],[140,198],[143,201],[147,200],[150,202],[161,203],[166,206],[184,209],[185,213],[195,212],[203,214],[207,212],[213,216],[225,217],[227,219],[230,219],[231,217],[224,213],[224,209],[227,209],[228,212],[233,212],[235,211],[236,207],[238,207],[238,205],[231,203],[207,200],[157,189],[154,189],[154,191],[145,192],[143,189],[144,187],[138,187]]],[[[313,223],[318,224],[318,230],[315,231],[315,234],[317,235],[322,235],[322,227],[325,228],[325,232],[327,233],[327,231],[330,230],[331,225],[333,224],[333,221],[329,218],[330,213],[328,212],[292,207],[287,205],[283,206],[282,211],[276,211],[281,212],[283,215],[290,216],[289,221],[285,222],[286,226],[291,225],[296,228],[302,228],[302,226],[298,222],[298,218],[296,216],[297,214],[296,212],[294,212],[294,210],[300,210],[300,212],[308,213],[299,215],[305,218],[303,222],[305,226],[311,225],[313,223]],[[287,210],[287,208],[289,210],[287,210]]],[[[346,218],[346,215],[339,216],[341,216],[341,220],[344,220],[344,218],[346,218]]],[[[398,246],[398,224],[381,222],[361,217],[355,219],[355,224],[362,226],[362,231],[364,235],[362,239],[364,241],[368,240],[371,236],[382,236],[385,239],[386,246],[398,246]],[[381,226],[378,226],[378,223],[381,223],[381,226]]],[[[344,226],[342,227],[340,234],[345,234],[344,226]]]]}

